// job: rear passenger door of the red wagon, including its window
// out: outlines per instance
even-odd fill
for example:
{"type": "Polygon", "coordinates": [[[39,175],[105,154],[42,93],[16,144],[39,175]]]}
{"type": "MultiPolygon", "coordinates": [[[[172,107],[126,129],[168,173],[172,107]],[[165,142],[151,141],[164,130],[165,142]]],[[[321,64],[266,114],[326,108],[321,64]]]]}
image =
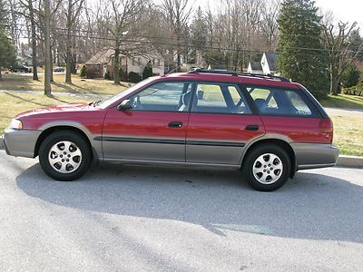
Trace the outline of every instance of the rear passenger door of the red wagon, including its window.
{"type": "Polygon", "coordinates": [[[186,161],[238,165],[246,143],[265,133],[238,85],[196,83],[189,118],[186,161]]]}

